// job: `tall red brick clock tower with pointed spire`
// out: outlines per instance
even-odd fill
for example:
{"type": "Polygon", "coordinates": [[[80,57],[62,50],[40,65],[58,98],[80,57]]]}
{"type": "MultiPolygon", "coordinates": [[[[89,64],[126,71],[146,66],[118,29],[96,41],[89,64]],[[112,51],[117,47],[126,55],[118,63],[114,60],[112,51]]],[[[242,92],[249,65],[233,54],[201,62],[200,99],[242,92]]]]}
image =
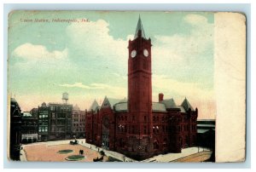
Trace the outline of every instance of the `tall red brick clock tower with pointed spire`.
{"type": "Polygon", "coordinates": [[[146,38],[139,17],[134,39],[129,40],[128,112],[132,152],[148,157],[152,149],[151,39],[146,38]]]}

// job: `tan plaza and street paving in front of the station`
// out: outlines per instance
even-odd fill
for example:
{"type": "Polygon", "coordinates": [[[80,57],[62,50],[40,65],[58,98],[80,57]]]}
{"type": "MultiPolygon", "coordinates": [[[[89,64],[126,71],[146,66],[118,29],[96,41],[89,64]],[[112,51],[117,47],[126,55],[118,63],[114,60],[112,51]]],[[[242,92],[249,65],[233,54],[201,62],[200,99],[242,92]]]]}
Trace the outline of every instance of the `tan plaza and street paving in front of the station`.
{"type": "MultiPolygon", "coordinates": [[[[84,139],[79,140],[79,145],[70,145],[69,141],[58,140],[23,145],[23,149],[20,151],[20,161],[67,162],[65,158],[70,155],[79,155],[79,150],[83,150],[85,158],[79,160],[79,162],[93,162],[93,158],[101,157],[99,152],[103,150],[106,154],[103,159],[104,162],[108,161],[109,157],[123,162],[137,162],[119,152],[108,151],[85,143],[84,139]],[[71,149],[73,152],[67,154],[58,153],[58,151],[64,149],[71,149]]],[[[211,151],[201,147],[189,147],[183,149],[181,153],[160,154],[142,162],[203,162],[210,158],[211,153],[211,151]]]]}

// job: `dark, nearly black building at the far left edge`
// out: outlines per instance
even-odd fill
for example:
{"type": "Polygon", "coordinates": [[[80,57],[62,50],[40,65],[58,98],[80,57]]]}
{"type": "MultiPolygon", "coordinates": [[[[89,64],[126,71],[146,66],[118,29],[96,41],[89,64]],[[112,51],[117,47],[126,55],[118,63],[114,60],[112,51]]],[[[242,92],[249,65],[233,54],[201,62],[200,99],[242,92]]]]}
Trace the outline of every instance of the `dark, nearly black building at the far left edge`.
{"type": "Polygon", "coordinates": [[[15,98],[10,100],[9,158],[20,160],[21,110],[15,98]]]}

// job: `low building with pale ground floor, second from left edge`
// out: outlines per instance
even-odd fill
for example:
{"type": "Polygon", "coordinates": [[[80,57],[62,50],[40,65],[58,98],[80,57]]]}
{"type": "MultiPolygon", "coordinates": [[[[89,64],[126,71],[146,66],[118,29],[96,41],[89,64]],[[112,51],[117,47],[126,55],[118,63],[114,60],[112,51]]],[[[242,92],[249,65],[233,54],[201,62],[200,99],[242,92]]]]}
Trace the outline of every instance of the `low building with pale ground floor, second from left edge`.
{"type": "Polygon", "coordinates": [[[38,141],[38,117],[30,112],[23,112],[21,116],[21,142],[32,143],[38,141]]]}

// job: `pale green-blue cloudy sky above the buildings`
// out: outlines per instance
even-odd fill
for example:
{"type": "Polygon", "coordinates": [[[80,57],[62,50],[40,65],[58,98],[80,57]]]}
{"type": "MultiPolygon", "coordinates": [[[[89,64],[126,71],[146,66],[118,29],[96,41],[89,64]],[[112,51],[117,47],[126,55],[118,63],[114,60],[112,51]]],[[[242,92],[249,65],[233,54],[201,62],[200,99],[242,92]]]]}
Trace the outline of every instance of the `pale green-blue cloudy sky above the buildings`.
{"type": "Polygon", "coordinates": [[[16,11],[9,15],[9,94],[22,111],[61,102],[63,92],[83,110],[105,95],[127,97],[127,46],[139,14],[153,44],[153,100],[160,92],[177,105],[187,97],[199,118],[214,118],[212,13],[16,11]]]}

